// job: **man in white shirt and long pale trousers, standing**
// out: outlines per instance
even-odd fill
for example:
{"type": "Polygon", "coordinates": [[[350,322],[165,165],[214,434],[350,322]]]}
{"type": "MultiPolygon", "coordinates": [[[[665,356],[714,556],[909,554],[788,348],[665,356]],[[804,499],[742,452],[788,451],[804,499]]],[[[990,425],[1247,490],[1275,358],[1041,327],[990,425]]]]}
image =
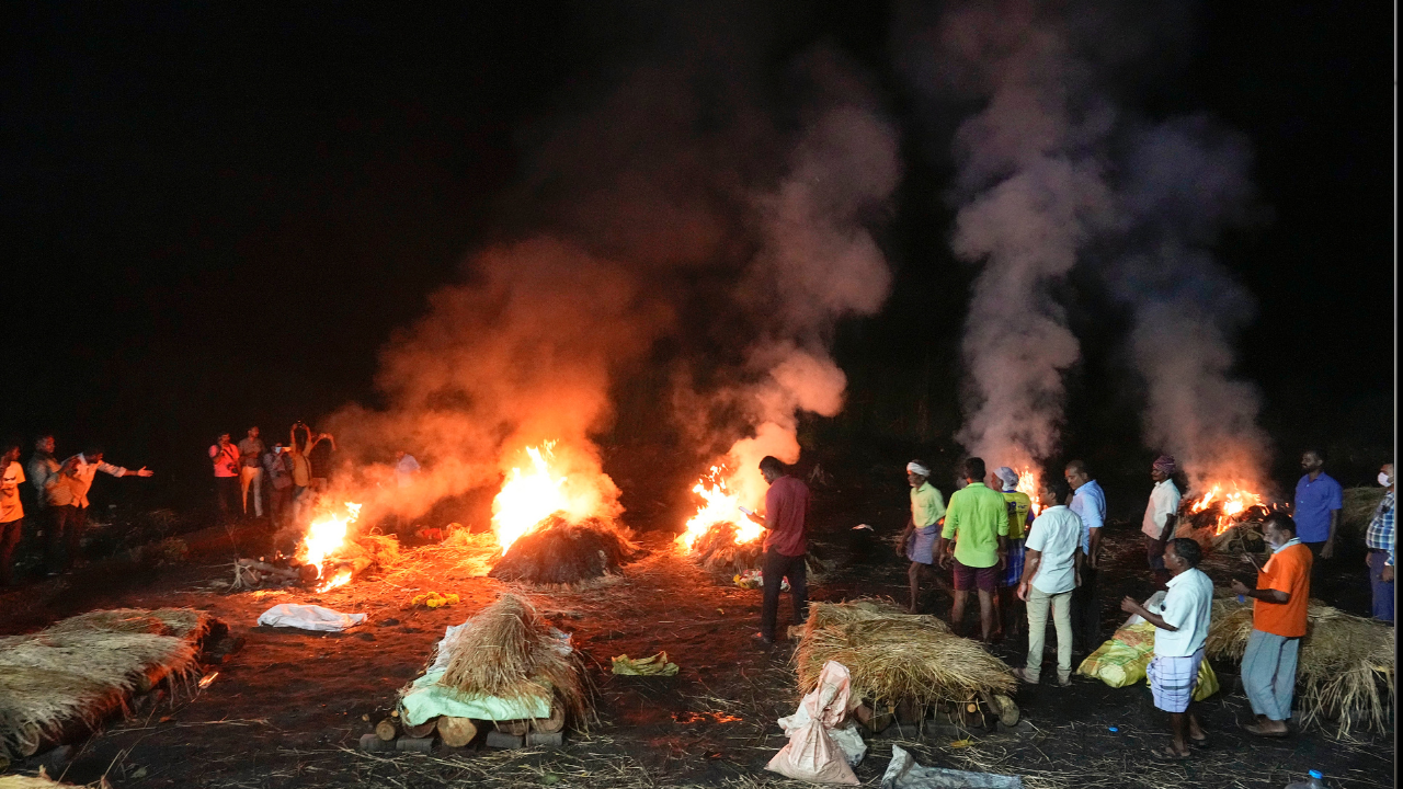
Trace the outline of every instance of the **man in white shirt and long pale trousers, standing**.
{"type": "Polygon", "coordinates": [[[1042,500],[1054,504],[1033,521],[1024,546],[1019,599],[1028,604],[1028,660],[1013,675],[1030,685],[1038,684],[1042,671],[1049,608],[1056,628],[1056,681],[1063,688],[1072,684],[1072,590],[1080,583],[1082,518],[1062,504],[1070,493],[1059,479],[1042,484],[1042,500]]]}

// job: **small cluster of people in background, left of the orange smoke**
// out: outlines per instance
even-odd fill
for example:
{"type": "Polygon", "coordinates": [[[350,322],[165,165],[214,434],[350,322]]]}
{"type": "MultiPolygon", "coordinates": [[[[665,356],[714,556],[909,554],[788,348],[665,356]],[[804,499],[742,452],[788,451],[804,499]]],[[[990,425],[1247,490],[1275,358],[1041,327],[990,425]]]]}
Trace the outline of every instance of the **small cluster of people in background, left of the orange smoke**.
{"type": "Polygon", "coordinates": [[[237,444],[227,432],[220,434],[209,448],[220,517],[226,522],[248,515],[262,518],[267,487],[274,525],[297,521],[310,508],[311,497],[325,489],[335,449],[334,435],[314,434],[300,421],[289,430],[288,444],[279,441],[272,446],[264,444],[257,425],[237,444]]]}

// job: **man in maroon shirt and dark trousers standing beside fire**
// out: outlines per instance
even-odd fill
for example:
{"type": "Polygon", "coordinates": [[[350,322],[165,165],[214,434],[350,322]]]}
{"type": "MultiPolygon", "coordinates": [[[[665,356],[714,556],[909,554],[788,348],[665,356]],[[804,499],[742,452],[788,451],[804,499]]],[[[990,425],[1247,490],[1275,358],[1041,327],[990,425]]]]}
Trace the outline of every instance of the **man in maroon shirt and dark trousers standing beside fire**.
{"type": "Polygon", "coordinates": [[[774,643],[774,619],[780,609],[780,580],[788,578],[794,598],[794,623],[808,618],[808,576],[804,553],[808,541],[808,486],[784,473],[784,463],[769,455],[760,460],[760,475],[770,489],[765,491],[765,517],[752,515],[765,524],[765,556],[760,573],[765,576],[765,602],[760,608],[760,632],[756,639],[774,643]]]}

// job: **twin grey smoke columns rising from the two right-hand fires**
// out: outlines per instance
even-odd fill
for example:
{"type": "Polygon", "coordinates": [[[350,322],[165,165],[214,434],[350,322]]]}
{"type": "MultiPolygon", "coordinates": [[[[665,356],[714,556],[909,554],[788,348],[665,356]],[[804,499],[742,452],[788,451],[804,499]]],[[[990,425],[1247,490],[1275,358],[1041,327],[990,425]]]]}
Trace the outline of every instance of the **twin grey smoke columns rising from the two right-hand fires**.
{"type": "Polygon", "coordinates": [[[1258,397],[1232,376],[1251,299],[1207,250],[1251,213],[1247,145],[1202,117],[1150,124],[1113,101],[1173,65],[1159,53],[1190,29],[1184,8],[1148,20],[1117,3],[955,3],[909,37],[904,67],[922,90],[979,107],[954,132],[951,246],[982,263],[957,438],[991,463],[1058,451],[1080,348],[1054,288],[1092,263],[1132,313],[1146,446],[1176,455],[1195,487],[1266,484],[1258,397]]]}

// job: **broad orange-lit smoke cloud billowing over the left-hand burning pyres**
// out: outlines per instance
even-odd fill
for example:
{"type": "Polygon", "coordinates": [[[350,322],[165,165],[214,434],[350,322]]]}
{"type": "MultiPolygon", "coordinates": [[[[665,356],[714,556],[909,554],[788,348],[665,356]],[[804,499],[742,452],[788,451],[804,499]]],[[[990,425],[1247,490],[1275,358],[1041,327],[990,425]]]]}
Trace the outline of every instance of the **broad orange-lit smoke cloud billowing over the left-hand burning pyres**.
{"type": "Polygon", "coordinates": [[[417,515],[495,486],[530,465],[529,446],[554,441],[563,486],[616,515],[595,437],[616,416],[612,387],[644,364],[672,369],[678,425],[703,438],[699,466],[730,446],[752,504],[759,458],[797,459],[797,414],[842,409],[832,331],[887,296],[866,227],[899,178],[897,135],[826,49],[791,63],[807,98],[786,108],[734,73],[717,87],[666,55],[536,131],[505,201],[525,240],[471,256],[463,281],[389,343],[376,380],[387,407],[335,416],[344,445],[379,459],[403,448],[424,465],[408,491],[386,462],[362,465],[345,487],[368,508],[417,515]],[[659,341],[682,350],[658,362],[659,341]]]}

